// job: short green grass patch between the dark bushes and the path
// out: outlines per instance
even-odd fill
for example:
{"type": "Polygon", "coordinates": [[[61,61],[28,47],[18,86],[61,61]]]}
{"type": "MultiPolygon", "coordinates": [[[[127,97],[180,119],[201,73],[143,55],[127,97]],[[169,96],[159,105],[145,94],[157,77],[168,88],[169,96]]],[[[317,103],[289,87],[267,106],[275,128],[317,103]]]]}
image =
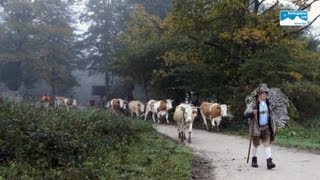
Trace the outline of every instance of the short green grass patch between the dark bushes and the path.
{"type": "Polygon", "coordinates": [[[191,149],[177,144],[157,132],[143,134],[141,143],[130,148],[124,166],[125,171],[119,172],[124,179],[190,179],[193,154],[191,149]],[[130,169],[136,169],[133,173],[130,169]],[[134,177],[134,178],[133,178],[134,177]]]}

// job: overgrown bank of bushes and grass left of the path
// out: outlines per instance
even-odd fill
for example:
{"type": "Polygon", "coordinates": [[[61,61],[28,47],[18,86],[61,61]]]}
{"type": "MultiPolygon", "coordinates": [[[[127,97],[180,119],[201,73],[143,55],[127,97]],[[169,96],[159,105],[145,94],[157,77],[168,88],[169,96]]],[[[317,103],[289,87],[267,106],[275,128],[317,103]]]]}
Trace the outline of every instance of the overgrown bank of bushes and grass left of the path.
{"type": "Polygon", "coordinates": [[[0,104],[0,179],[190,179],[192,160],[138,119],[0,104]]]}

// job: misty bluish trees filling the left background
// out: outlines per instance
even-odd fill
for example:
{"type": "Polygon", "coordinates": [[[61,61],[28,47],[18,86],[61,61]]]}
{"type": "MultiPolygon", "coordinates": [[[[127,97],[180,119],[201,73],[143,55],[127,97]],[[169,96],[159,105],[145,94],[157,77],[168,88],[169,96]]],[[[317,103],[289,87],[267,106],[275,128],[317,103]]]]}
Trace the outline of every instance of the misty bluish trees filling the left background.
{"type": "Polygon", "coordinates": [[[0,82],[17,90],[45,81],[48,93],[62,94],[78,85],[72,71],[81,69],[104,73],[111,94],[110,63],[136,4],[160,17],[171,6],[169,0],[0,0],[0,82]],[[80,23],[89,25],[81,35],[80,23]]]}

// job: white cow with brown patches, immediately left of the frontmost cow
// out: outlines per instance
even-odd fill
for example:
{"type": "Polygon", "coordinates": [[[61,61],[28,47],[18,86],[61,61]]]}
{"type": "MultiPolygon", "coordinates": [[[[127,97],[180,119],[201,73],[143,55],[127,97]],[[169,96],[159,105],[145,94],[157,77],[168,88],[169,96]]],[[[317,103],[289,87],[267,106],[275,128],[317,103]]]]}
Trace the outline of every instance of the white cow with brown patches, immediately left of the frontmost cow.
{"type": "Polygon", "coordinates": [[[147,103],[146,112],[144,114],[144,120],[147,120],[149,112],[152,112],[152,119],[153,122],[156,122],[155,116],[158,117],[158,123],[160,123],[160,118],[162,116],[166,116],[167,124],[169,124],[169,113],[168,111],[172,109],[172,102],[173,100],[167,99],[167,100],[150,100],[147,103]]]}

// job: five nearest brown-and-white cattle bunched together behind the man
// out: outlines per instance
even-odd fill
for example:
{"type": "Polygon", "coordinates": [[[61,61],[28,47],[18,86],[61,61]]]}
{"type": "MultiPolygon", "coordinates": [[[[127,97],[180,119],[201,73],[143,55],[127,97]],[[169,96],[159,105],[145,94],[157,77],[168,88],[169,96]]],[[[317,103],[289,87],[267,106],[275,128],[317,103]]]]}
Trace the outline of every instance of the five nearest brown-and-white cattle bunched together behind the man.
{"type": "MultiPolygon", "coordinates": [[[[146,105],[140,101],[134,100],[127,102],[123,99],[112,99],[107,102],[106,108],[113,112],[125,113],[129,111],[131,117],[143,117],[146,121],[148,115],[152,114],[152,119],[154,122],[160,123],[160,119],[164,117],[167,124],[169,124],[169,110],[173,108],[173,100],[150,100],[146,105]]],[[[219,131],[219,125],[222,117],[227,117],[228,106],[225,104],[202,102],[200,107],[196,107],[192,104],[181,103],[179,104],[173,114],[173,120],[178,127],[178,135],[181,142],[187,140],[186,130],[188,131],[188,142],[191,143],[191,133],[193,122],[200,111],[203,123],[207,129],[209,129],[207,120],[211,121],[212,126],[216,126],[217,131],[219,131]]]]}

